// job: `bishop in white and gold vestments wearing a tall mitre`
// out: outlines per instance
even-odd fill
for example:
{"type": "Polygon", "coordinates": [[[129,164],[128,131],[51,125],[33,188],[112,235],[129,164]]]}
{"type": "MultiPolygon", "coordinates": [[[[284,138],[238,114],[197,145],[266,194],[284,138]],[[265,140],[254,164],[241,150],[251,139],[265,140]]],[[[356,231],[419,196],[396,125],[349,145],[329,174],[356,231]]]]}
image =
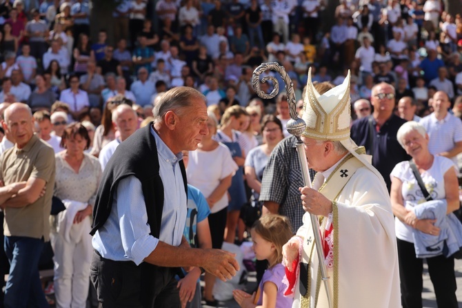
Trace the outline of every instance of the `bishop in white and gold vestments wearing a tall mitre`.
{"type": "MultiPolygon", "coordinates": [[[[385,182],[371,157],[350,139],[350,73],[319,95],[304,97],[302,133],[308,164],[318,171],[301,189],[303,226],[283,248],[292,307],[328,308],[310,213],[320,221],[321,246],[332,307],[399,308],[394,218],[385,182]]],[[[392,153],[390,153],[392,155],[392,153]]]]}

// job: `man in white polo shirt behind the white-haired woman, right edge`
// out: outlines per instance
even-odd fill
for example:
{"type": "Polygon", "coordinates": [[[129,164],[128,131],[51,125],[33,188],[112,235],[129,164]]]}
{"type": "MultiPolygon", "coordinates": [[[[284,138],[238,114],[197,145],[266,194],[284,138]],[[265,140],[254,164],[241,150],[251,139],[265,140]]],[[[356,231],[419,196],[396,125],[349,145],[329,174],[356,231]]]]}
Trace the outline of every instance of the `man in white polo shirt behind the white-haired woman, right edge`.
{"type": "Polygon", "coordinates": [[[462,152],[461,119],[448,111],[451,102],[444,91],[433,95],[432,106],[433,113],[419,122],[430,136],[428,151],[432,155],[448,157],[457,165],[456,156],[462,152]]]}

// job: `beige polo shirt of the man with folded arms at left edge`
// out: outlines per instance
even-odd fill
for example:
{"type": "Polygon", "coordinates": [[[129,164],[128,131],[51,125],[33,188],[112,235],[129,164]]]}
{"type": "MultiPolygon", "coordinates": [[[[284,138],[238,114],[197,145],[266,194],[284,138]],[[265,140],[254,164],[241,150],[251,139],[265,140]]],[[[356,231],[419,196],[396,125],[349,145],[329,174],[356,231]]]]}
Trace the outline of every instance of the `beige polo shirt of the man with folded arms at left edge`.
{"type": "Polygon", "coordinates": [[[46,182],[46,193],[36,202],[21,208],[7,207],[3,221],[6,236],[50,238],[48,217],[54,187],[54,151],[51,146],[33,135],[23,148],[8,149],[0,156],[0,180],[8,185],[27,181],[30,177],[46,182]]]}

